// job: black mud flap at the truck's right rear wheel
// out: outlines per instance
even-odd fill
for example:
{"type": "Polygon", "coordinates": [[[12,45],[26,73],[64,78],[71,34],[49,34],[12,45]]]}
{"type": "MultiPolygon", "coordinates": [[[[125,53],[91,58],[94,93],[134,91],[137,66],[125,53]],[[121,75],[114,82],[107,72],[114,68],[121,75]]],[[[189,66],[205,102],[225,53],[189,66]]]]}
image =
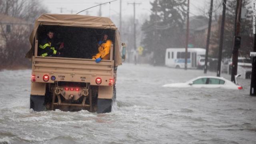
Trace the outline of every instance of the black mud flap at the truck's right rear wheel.
{"type": "Polygon", "coordinates": [[[97,113],[107,113],[111,112],[112,99],[101,99],[98,98],[97,102],[97,113]]]}

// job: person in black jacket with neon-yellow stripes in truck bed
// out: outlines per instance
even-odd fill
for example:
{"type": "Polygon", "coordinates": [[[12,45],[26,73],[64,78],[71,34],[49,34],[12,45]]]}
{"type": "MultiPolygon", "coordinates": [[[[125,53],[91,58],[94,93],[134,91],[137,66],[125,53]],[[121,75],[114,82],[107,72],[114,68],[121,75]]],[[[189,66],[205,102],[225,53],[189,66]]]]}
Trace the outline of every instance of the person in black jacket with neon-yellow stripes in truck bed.
{"type": "MultiPolygon", "coordinates": [[[[43,39],[38,48],[38,54],[39,56],[59,56],[60,52],[57,51],[57,48],[54,47],[53,44],[53,35],[54,33],[52,31],[47,32],[47,38],[43,39]]],[[[62,49],[63,45],[60,45],[58,50],[62,49]]]]}

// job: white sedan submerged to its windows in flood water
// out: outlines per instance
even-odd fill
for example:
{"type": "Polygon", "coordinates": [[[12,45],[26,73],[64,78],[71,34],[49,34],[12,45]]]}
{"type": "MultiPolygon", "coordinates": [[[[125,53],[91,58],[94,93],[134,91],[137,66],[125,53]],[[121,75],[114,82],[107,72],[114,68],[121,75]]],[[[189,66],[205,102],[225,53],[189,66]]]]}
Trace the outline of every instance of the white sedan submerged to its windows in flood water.
{"type": "Polygon", "coordinates": [[[199,76],[185,83],[165,84],[163,87],[176,87],[176,88],[226,88],[226,89],[243,89],[242,86],[237,84],[237,77],[235,76],[236,84],[233,82],[217,76],[199,76]]]}

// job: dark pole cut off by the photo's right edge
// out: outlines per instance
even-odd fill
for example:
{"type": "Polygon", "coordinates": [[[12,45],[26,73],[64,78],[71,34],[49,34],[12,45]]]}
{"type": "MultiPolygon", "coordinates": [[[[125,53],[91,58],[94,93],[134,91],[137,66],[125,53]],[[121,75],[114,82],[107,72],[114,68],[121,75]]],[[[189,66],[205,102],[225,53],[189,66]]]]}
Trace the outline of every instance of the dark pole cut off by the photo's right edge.
{"type": "MultiPolygon", "coordinates": [[[[256,52],[256,34],[254,34],[254,47],[253,51],[256,52]]],[[[256,56],[252,57],[252,77],[251,77],[251,88],[250,96],[256,96],[256,56]]]]}

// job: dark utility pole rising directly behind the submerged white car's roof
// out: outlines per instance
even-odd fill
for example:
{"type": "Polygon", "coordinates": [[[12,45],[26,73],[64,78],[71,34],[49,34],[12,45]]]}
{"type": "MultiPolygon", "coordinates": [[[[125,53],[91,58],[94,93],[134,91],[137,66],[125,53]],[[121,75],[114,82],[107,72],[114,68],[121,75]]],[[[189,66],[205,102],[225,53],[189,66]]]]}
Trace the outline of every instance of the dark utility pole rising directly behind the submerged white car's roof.
{"type": "Polygon", "coordinates": [[[226,15],[226,4],[227,0],[223,0],[222,6],[222,20],[221,20],[221,28],[220,28],[220,44],[219,44],[219,58],[218,58],[218,68],[217,68],[217,76],[220,76],[220,66],[221,66],[221,58],[222,58],[222,46],[223,46],[223,34],[224,34],[224,25],[225,25],[225,15],[226,15]]]}

